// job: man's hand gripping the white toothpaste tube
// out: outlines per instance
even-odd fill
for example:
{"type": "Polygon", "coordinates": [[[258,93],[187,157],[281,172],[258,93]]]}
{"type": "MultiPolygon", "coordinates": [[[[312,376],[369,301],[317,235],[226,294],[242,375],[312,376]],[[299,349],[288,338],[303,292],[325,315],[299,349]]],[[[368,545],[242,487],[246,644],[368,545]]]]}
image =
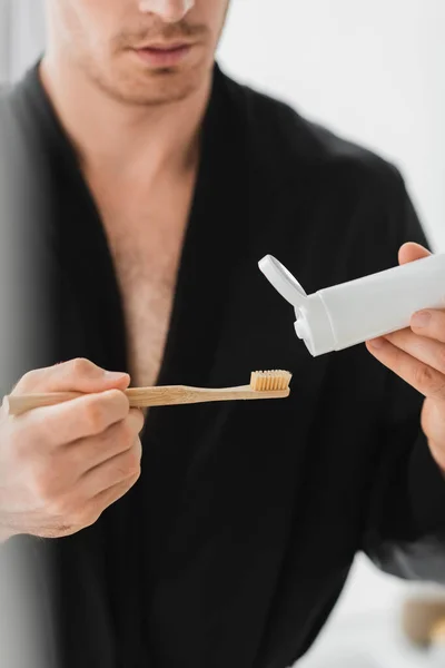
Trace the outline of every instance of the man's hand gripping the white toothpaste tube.
{"type": "MultiPolygon", "coordinates": [[[[398,259],[406,264],[427,255],[429,252],[423,246],[405,244],[398,259]]],[[[426,397],[422,429],[434,459],[445,473],[445,311],[417,313],[411,327],[369,341],[366,346],[379,362],[426,397]]]]}

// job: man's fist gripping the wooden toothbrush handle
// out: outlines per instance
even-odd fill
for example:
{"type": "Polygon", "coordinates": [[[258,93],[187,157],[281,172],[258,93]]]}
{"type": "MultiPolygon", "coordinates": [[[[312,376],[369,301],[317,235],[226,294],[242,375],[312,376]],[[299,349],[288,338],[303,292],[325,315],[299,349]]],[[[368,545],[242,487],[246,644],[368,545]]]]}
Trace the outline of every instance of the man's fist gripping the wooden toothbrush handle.
{"type": "Polygon", "coordinates": [[[77,391],[85,396],[18,416],[0,412],[0,541],[58,538],[97,521],[140,474],[144,425],[129,407],[127,374],[88,360],[27,373],[12,394],[77,391]]]}

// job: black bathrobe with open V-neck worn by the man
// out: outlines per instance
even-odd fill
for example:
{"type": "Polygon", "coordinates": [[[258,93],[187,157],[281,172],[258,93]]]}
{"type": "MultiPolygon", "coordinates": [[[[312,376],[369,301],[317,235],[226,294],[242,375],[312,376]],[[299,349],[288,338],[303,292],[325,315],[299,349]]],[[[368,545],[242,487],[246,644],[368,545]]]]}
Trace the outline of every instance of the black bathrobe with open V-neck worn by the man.
{"type": "MultiPolygon", "coordinates": [[[[3,97],[16,245],[36,273],[22,292],[39,304],[27,331],[47,343],[17,375],[77,356],[126,370],[106,235],[37,70],[3,97]]],[[[9,622],[38,620],[46,667],[285,668],[357,551],[445,582],[445,480],[423,397],[364,345],[313,358],[257,266],[270,253],[310,293],[396,265],[407,240],[426,243],[393,166],[215,69],[158,383],[287,369],[291,394],[150,410],[142,475],[121,501],[76,536],[3,547],[27,571],[9,622]]]]}

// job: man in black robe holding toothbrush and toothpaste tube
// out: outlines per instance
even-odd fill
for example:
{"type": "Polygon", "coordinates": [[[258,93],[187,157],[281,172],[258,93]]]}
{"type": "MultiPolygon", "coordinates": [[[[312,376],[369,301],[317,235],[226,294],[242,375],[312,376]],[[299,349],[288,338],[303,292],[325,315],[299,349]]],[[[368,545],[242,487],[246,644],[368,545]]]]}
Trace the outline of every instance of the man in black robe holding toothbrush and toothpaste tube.
{"type": "Polygon", "coordinates": [[[445,581],[445,314],[312,358],[257,268],[273,253],[313,291],[424,234],[392,166],[214,66],[227,9],[48,0],[3,104],[50,342],[14,393],[86,393],[1,423],[3,550],[36,576],[46,666],[284,668],[358,550],[445,581]],[[141,448],[120,372],[274,367],[288,400],[152,409],[141,448]]]}

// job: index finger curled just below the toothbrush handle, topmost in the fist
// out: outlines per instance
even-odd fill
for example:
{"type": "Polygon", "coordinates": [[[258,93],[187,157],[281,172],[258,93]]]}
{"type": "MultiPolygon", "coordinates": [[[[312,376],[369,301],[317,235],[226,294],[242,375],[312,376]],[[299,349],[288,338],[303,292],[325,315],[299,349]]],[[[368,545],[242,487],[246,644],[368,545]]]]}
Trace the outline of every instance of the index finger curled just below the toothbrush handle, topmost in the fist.
{"type": "Polygon", "coordinates": [[[21,415],[21,434],[34,444],[55,448],[100,434],[127,418],[128,412],[126,394],[108,390],[21,415]]]}

